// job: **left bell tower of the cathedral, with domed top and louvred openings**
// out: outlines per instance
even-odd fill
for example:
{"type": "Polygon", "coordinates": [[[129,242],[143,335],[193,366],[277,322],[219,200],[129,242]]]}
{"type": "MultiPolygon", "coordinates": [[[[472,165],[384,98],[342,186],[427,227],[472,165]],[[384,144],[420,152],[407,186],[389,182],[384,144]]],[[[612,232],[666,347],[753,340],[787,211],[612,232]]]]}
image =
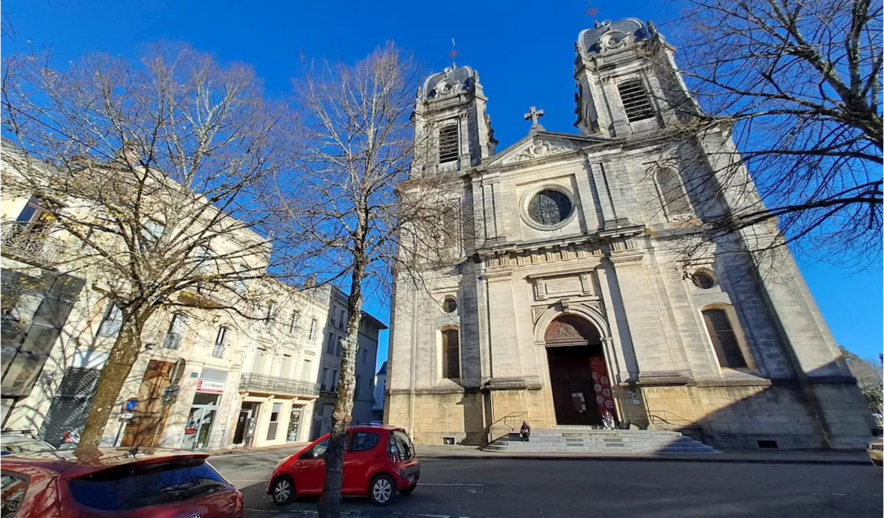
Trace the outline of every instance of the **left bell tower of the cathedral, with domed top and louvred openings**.
{"type": "Polygon", "coordinates": [[[465,171],[494,154],[479,74],[452,65],[423,81],[415,111],[415,176],[465,171]]]}

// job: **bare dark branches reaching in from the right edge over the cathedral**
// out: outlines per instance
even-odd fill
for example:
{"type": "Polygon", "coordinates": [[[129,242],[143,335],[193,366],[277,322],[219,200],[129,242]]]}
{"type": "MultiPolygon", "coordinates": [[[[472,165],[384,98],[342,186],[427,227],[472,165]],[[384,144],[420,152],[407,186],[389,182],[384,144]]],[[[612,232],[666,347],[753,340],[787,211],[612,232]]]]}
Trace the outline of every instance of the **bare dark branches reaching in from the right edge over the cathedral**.
{"type": "Polygon", "coordinates": [[[676,108],[690,113],[692,134],[729,133],[736,143],[706,149],[720,164],[717,192],[738,202],[701,233],[714,239],[776,218],[782,236],[764,247],[795,243],[872,263],[884,245],[884,4],[688,4],[672,32],[704,112],[691,100],[676,108]]]}

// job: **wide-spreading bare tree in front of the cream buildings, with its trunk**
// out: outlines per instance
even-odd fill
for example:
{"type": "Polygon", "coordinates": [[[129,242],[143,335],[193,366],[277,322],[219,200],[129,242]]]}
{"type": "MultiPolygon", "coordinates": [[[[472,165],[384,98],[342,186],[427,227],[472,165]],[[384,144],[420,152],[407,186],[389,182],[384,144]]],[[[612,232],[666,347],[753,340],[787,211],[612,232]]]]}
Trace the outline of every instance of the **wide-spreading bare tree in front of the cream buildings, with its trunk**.
{"type": "Polygon", "coordinates": [[[255,207],[284,164],[290,118],[248,67],[162,45],[65,70],[12,58],[0,103],[18,146],[4,146],[4,187],[43,215],[4,239],[66,243],[51,265],[87,278],[118,320],[80,438],[95,447],[158,309],[255,309],[248,281],[271,251],[255,207]]]}

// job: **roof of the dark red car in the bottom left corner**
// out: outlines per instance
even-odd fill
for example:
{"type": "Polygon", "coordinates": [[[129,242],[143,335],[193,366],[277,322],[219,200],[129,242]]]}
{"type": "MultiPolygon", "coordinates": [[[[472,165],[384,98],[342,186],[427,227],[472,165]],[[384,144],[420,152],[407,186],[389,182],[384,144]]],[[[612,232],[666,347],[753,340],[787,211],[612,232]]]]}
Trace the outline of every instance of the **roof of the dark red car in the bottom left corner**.
{"type": "Polygon", "coordinates": [[[186,450],[166,448],[141,448],[134,455],[130,448],[97,448],[86,452],[77,450],[56,450],[52,452],[5,455],[0,457],[0,469],[14,468],[15,465],[42,468],[64,474],[66,478],[80,476],[133,462],[156,462],[172,457],[206,458],[208,453],[193,453],[186,450]]]}

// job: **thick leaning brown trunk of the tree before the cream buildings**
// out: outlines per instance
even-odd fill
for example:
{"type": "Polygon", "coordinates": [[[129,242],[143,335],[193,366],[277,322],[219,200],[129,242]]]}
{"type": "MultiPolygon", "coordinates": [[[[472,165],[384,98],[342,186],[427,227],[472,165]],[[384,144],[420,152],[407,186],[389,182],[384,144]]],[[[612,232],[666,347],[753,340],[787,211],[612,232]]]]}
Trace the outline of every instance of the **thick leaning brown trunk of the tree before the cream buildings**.
{"type": "Polygon", "coordinates": [[[110,349],[108,361],[104,363],[101,377],[98,379],[95,400],[92,401],[92,408],[86,418],[86,428],[80,434],[78,451],[101,445],[104,427],[116,408],[119,391],[126,383],[126,377],[129,377],[141,351],[141,325],[146,320],[147,316],[124,311],[117,340],[110,349]]]}

